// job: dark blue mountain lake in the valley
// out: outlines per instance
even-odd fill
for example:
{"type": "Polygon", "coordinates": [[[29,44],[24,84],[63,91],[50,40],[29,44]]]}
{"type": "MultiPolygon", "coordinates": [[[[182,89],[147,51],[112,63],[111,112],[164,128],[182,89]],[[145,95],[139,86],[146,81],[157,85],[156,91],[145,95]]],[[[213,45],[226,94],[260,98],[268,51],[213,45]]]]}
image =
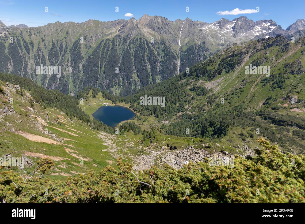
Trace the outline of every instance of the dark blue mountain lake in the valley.
{"type": "Polygon", "coordinates": [[[121,121],[132,119],[135,113],[131,109],[116,105],[102,106],[92,116],[106,125],[116,127],[121,121]]]}

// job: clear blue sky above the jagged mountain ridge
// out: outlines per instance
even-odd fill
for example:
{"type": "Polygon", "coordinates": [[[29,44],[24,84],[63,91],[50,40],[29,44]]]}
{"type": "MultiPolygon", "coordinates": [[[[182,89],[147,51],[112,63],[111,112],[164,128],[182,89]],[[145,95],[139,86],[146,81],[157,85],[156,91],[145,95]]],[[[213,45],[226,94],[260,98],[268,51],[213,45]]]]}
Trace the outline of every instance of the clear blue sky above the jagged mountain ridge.
{"type": "MultiPolygon", "coordinates": [[[[208,23],[215,22],[221,18],[233,20],[239,16],[247,16],[254,21],[272,19],[278,25],[286,29],[297,19],[305,19],[305,1],[171,1],[171,0],[82,0],[82,1],[24,1],[24,0],[0,0],[0,20],[7,26],[13,24],[26,24],[29,27],[43,26],[47,23],[59,22],[84,22],[89,19],[100,21],[129,19],[124,16],[131,13],[138,19],[143,14],[150,16],[158,15],[167,17],[169,20],[186,17],[192,20],[200,20],[208,23]],[[45,12],[45,7],[48,12],[45,12]],[[115,7],[119,7],[119,12],[115,12],[115,7]],[[254,10],[259,7],[259,12],[254,10]],[[189,12],[185,12],[185,7],[189,7],[189,12]],[[241,14],[230,15],[230,11],[238,8],[241,14]],[[229,11],[229,13],[225,12],[229,11]],[[254,12],[244,14],[243,12],[254,12]],[[217,13],[218,12],[218,13],[217,13]],[[229,15],[228,15],[229,14],[229,15]]],[[[232,12],[231,12],[232,14],[232,12]]]]}

